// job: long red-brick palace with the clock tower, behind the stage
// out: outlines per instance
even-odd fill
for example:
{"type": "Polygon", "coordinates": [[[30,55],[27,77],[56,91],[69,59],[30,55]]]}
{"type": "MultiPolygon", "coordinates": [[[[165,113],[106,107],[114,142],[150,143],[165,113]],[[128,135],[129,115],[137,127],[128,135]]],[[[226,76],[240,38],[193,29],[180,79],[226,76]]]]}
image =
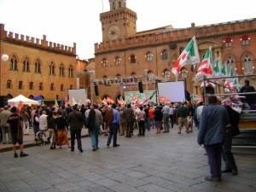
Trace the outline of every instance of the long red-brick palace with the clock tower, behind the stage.
{"type": "MultiPolygon", "coordinates": [[[[228,72],[256,72],[256,19],[206,26],[192,23],[188,28],[178,29],[162,26],[137,32],[137,14],[126,8],[126,0],[110,0],[109,3],[110,10],[100,15],[102,43],[95,44],[94,81],[99,85],[101,99],[106,96],[116,99],[124,96],[125,91],[138,90],[140,80],[144,90],[154,90],[156,80],[175,81],[172,66],[194,36],[201,59],[211,46],[213,59],[220,57],[222,63],[227,64],[228,72]]],[[[190,71],[189,65],[183,67],[183,72],[186,73],[183,77],[186,77],[189,93],[202,93],[201,82],[195,83],[196,73],[190,71]]],[[[183,80],[183,77],[180,73],[178,80],[183,80]]],[[[255,86],[256,79],[249,79],[255,86]]],[[[222,87],[218,89],[223,90],[222,87]]]]}

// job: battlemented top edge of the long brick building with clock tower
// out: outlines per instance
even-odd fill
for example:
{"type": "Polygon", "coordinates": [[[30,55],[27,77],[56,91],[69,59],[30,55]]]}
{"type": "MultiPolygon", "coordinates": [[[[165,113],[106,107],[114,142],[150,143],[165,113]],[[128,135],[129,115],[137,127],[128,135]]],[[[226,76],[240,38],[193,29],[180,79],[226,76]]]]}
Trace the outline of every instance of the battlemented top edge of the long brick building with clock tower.
{"type": "Polygon", "coordinates": [[[224,23],[217,23],[206,26],[195,26],[192,23],[188,28],[164,28],[158,32],[147,31],[137,32],[136,35],[121,38],[113,41],[104,41],[95,44],[95,53],[100,54],[105,51],[116,49],[129,49],[135,47],[150,46],[155,44],[178,43],[188,41],[195,36],[197,39],[206,38],[227,38],[232,35],[245,35],[256,32],[256,18],[248,20],[236,20],[224,23]]]}

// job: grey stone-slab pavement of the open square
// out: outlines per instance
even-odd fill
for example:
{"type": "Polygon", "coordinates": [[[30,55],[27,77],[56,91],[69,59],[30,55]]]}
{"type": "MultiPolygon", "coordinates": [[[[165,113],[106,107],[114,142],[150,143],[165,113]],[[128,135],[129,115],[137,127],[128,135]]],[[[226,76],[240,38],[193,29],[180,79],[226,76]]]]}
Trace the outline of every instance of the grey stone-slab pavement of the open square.
{"type": "MultiPolygon", "coordinates": [[[[137,130],[134,132],[137,135],[137,130]]],[[[25,148],[28,157],[0,154],[0,191],[118,191],[118,192],[249,192],[256,191],[255,148],[234,148],[238,175],[223,174],[220,183],[204,181],[209,174],[207,156],[196,143],[197,130],[177,134],[146,132],[145,137],[118,137],[119,148],[91,151],[90,137],[82,138],[84,153],[63,146],[25,148]]]]}

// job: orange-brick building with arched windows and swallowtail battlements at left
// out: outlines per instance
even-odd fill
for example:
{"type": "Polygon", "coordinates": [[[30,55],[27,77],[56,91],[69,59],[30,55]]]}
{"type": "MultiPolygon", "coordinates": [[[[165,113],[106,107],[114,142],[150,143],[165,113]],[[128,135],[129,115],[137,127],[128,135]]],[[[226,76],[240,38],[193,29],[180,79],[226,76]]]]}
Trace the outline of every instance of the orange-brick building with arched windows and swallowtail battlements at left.
{"type": "Polygon", "coordinates": [[[44,101],[60,101],[67,89],[77,88],[76,44],[68,47],[4,30],[0,24],[0,96],[5,100],[20,94],[44,101]]]}

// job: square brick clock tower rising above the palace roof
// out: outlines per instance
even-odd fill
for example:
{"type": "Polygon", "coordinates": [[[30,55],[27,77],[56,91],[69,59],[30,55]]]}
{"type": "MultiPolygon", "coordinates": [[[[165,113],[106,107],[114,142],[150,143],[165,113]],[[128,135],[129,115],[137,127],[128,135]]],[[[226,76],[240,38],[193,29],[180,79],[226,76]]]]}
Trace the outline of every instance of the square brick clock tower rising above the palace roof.
{"type": "Polygon", "coordinates": [[[100,15],[102,41],[113,41],[135,35],[137,13],[126,8],[126,0],[109,0],[110,10],[100,15]]]}

